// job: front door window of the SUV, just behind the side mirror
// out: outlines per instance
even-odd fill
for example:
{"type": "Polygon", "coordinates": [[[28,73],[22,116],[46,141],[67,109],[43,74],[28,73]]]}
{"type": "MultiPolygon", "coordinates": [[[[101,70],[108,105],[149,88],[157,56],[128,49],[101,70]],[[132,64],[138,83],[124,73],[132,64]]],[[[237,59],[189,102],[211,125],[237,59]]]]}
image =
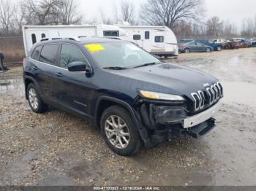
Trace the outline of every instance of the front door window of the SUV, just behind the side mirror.
{"type": "Polygon", "coordinates": [[[69,63],[78,61],[86,63],[86,59],[84,58],[82,52],[80,52],[80,50],[73,45],[63,44],[61,47],[61,68],[67,69],[67,65],[69,63]]]}

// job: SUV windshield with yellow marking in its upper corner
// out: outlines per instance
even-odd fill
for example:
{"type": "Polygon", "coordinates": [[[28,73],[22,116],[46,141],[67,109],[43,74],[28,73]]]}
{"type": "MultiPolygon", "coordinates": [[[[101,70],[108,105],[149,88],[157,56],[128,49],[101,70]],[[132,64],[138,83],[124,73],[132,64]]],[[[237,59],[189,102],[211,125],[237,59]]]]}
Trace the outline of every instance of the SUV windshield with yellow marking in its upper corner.
{"type": "Polygon", "coordinates": [[[129,42],[84,44],[84,47],[102,68],[127,69],[148,63],[161,63],[153,55],[129,42]]]}

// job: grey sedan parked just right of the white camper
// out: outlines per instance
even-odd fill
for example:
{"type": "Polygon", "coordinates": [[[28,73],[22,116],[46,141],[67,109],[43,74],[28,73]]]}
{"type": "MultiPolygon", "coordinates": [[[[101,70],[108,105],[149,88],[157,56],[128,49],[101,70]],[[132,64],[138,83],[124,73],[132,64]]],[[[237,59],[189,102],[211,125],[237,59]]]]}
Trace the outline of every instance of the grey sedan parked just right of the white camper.
{"type": "Polygon", "coordinates": [[[186,44],[178,44],[178,50],[180,52],[189,53],[189,52],[211,52],[214,51],[214,48],[200,43],[200,42],[188,42],[186,44]]]}

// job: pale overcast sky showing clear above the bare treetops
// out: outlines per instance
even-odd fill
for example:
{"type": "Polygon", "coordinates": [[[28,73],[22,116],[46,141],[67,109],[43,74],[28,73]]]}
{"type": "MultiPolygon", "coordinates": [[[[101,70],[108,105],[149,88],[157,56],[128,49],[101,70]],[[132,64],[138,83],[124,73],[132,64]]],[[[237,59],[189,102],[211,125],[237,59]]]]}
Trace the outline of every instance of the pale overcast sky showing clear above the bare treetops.
{"type": "MultiPolygon", "coordinates": [[[[88,19],[100,18],[99,7],[107,13],[113,10],[113,4],[118,4],[121,0],[80,0],[80,11],[88,19]]],[[[140,4],[146,0],[133,1],[139,11],[140,4]]],[[[235,22],[238,26],[244,17],[255,17],[256,0],[205,0],[206,16],[219,16],[224,20],[235,22]]]]}

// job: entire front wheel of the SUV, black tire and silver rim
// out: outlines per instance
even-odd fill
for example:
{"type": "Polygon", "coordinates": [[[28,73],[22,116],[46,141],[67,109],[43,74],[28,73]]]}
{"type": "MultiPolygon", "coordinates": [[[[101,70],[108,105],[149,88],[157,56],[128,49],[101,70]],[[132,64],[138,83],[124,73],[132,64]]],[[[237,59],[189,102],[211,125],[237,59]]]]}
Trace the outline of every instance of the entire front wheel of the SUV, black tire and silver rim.
{"type": "Polygon", "coordinates": [[[102,114],[100,128],[108,147],[118,155],[135,155],[140,149],[138,129],[126,109],[110,106],[102,114]]]}

